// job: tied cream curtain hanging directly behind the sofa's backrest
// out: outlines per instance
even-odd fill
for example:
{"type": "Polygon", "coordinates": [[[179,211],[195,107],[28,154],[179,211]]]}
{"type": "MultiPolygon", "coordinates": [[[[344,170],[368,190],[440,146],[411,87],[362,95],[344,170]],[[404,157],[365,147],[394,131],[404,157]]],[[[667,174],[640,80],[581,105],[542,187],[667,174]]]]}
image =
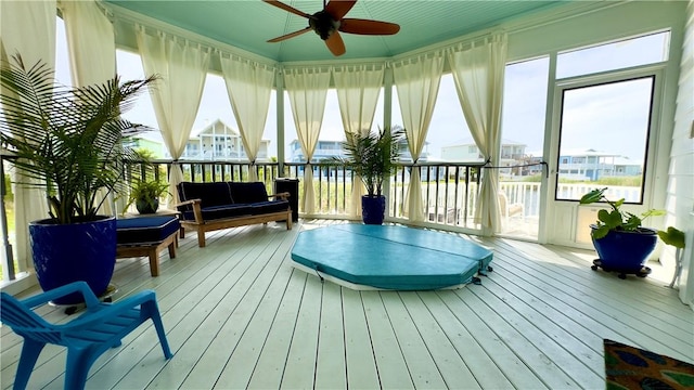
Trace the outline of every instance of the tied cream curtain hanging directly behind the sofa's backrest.
{"type": "Polygon", "coordinates": [[[270,108],[274,68],[235,55],[220,55],[227,93],[250,161],[248,181],[257,181],[256,158],[270,108]]]}

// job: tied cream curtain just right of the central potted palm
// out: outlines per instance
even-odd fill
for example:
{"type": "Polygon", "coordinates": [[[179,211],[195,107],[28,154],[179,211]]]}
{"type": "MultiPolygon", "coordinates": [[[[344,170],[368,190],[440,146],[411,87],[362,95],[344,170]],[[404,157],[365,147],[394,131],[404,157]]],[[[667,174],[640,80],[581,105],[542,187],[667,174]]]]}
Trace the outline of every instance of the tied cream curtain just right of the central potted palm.
{"type": "MultiPolygon", "coordinates": [[[[402,123],[408,138],[412,161],[416,165],[432,122],[438,87],[444,70],[444,53],[436,52],[395,63],[393,76],[400,101],[402,123]]],[[[408,218],[424,221],[422,181],[419,167],[412,167],[407,195],[408,218]]]]}

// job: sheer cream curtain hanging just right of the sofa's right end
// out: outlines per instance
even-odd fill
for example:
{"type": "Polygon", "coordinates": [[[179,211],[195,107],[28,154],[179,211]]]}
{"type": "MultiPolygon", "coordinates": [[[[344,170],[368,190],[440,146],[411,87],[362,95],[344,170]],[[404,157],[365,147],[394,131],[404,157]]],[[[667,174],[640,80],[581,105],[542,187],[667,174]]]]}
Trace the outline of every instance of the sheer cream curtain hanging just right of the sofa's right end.
{"type": "Polygon", "coordinates": [[[290,95],[294,126],[296,126],[296,134],[307,161],[304,169],[304,199],[301,199],[304,212],[307,214],[316,211],[311,158],[313,158],[323,121],[330,74],[330,69],[307,67],[284,70],[284,86],[290,95]]]}

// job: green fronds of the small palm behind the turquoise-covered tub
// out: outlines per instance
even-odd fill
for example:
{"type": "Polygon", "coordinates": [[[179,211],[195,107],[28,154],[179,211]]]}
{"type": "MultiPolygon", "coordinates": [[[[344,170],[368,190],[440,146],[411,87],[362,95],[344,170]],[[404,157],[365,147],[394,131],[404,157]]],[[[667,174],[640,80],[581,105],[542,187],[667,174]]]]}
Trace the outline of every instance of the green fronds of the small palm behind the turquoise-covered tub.
{"type": "Polygon", "coordinates": [[[343,142],[346,157],[333,157],[332,161],[344,165],[361,178],[369,196],[381,196],[384,180],[393,174],[398,159],[398,144],[404,139],[404,130],[396,126],[376,132],[347,133],[343,142]]]}

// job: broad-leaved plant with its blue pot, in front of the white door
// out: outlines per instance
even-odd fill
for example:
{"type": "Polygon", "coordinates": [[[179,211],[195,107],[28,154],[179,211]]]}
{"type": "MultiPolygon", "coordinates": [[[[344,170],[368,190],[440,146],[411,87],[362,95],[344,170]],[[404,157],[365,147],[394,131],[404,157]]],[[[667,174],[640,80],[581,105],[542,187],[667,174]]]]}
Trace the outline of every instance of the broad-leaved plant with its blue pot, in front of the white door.
{"type": "Polygon", "coordinates": [[[591,224],[591,238],[600,259],[593,262],[593,270],[601,266],[605,271],[617,271],[619,277],[633,273],[645,277],[651,270],[644,266],[658,242],[657,231],[642,226],[643,220],[652,216],[663,216],[664,210],[651,209],[641,216],[622,211],[625,199],[616,202],[604,195],[607,188],[596,188],[580,199],[581,205],[604,202],[612,210],[597,211],[597,221],[591,224]]]}

